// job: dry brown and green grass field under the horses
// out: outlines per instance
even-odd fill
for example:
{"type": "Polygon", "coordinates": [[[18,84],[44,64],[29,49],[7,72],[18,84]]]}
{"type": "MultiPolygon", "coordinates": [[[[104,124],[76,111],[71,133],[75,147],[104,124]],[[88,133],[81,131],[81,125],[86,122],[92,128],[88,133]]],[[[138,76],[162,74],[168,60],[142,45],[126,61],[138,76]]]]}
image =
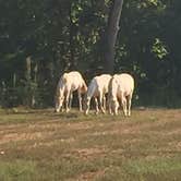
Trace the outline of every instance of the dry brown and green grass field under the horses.
{"type": "Polygon", "coordinates": [[[0,110],[0,181],[64,180],[180,181],[181,109],[0,110]]]}

